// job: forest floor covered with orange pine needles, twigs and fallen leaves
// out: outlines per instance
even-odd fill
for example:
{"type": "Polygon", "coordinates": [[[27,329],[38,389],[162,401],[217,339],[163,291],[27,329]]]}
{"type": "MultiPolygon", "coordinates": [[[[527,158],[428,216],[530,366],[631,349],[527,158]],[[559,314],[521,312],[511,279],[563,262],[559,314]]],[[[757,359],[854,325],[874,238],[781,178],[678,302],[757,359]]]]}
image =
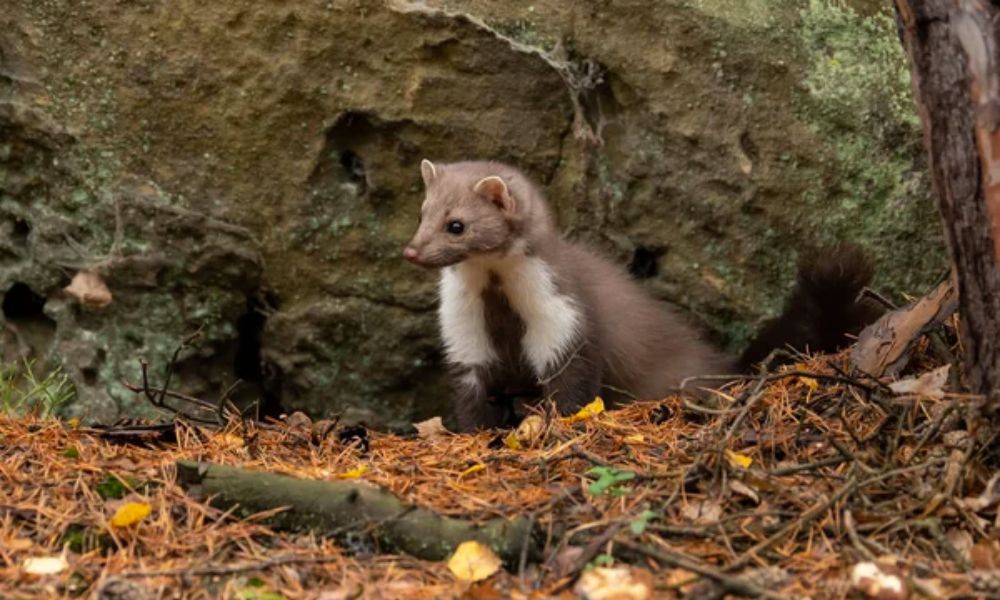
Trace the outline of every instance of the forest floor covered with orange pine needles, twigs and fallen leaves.
{"type": "MultiPolygon", "coordinates": [[[[940,364],[922,351],[908,372],[940,364]]],[[[707,397],[550,418],[520,438],[323,435],[291,418],[168,419],[133,435],[0,416],[0,597],[995,593],[990,428],[940,385],[900,394],[846,369],[845,355],[803,358],[707,397]],[[178,483],[178,460],[381,486],[462,519],[527,516],[539,552],[468,581],[453,562],[382,554],[365,531],[338,545],[270,527],[275,511],[214,508],[178,483]]]]}

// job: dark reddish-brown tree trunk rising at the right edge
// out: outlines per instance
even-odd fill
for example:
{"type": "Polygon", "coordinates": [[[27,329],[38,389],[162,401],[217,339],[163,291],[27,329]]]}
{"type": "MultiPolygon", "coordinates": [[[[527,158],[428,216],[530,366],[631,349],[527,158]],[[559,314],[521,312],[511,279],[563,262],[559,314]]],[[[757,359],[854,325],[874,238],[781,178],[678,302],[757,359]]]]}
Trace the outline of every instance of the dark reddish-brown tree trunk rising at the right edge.
{"type": "Polygon", "coordinates": [[[1000,6],[895,0],[959,294],[966,383],[1000,392],[1000,6]]]}

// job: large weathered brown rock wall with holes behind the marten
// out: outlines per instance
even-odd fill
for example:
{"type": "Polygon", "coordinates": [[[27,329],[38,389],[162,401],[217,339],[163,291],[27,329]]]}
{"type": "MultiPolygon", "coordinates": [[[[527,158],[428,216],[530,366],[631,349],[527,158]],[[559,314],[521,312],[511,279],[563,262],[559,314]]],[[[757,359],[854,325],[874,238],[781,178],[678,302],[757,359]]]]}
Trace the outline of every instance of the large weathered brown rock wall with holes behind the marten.
{"type": "Polygon", "coordinates": [[[733,347],[806,245],[859,241],[919,292],[940,228],[868,4],[10,0],[3,359],[61,366],[69,412],[106,420],[148,410],[120,380],[203,327],[186,393],[440,413],[433,277],[398,258],[423,157],[520,165],[568,235],[733,347]],[[109,306],[61,291],[83,269],[109,306]]]}

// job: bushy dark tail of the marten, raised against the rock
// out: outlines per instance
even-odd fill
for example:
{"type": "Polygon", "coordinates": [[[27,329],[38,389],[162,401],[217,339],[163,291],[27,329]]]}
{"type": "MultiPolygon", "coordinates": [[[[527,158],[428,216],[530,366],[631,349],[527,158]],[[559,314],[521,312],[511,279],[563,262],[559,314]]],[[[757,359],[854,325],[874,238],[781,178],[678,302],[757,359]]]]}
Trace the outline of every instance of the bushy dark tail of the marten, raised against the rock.
{"type": "MultiPolygon", "coordinates": [[[[876,302],[859,298],[874,267],[853,244],[838,244],[802,257],[798,279],[781,314],[761,327],[740,356],[749,369],[776,349],[834,352],[884,312],[876,302]]],[[[776,358],[771,364],[788,362],[776,358]]]]}

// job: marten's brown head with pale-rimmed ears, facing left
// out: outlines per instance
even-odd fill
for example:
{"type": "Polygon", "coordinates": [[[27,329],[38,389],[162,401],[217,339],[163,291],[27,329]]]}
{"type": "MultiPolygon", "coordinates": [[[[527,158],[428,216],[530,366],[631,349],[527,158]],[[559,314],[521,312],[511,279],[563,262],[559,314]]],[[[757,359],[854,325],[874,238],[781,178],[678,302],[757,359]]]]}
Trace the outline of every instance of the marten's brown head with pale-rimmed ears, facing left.
{"type": "Polygon", "coordinates": [[[447,267],[483,254],[507,251],[522,222],[521,179],[497,163],[420,163],[426,196],[417,233],[403,257],[424,267],[447,267]],[[519,183],[519,182],[518,182],[519,183]],[[518,186],[519,187],[519,186],[518,186]]]}

